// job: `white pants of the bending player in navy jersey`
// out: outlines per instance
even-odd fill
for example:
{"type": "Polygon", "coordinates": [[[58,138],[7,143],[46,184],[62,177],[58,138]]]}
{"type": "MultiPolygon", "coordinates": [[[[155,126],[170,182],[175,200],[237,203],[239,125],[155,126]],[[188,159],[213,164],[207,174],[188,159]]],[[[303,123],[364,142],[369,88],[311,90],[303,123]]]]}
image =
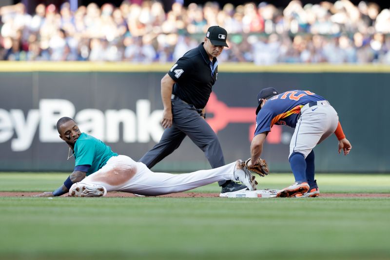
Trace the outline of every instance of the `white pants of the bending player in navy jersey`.
{"type": "Polygon", "coordinates": [[[294,152],[306,158],[318,143],[336,131],[337,124],[337,112],[327,100],[317,101],[313,106],[304,105],[291,138],[289,158],[294,152]]]}

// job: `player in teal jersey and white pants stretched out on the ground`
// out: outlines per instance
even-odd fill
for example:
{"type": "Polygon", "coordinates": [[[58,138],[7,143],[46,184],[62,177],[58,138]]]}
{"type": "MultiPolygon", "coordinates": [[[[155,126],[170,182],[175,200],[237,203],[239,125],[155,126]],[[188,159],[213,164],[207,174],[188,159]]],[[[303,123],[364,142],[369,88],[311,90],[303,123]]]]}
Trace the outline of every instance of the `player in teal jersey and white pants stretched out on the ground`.
{"type": "Polygon", "coordinates": [[[187,174],[154,173],[142,162],[117,155],[101,140],[81,133],[71,118],[59,119],[57,129],[59,137],[73,151],[75,169],[57,190],[43,192],[36,197],[60,196],[67,192],[73,197],[100,197],[107,191],[157,196],[194,189],[220,180],[241,181],[250,190],[256,189],[254,176],[241,160],[187,174]]]}

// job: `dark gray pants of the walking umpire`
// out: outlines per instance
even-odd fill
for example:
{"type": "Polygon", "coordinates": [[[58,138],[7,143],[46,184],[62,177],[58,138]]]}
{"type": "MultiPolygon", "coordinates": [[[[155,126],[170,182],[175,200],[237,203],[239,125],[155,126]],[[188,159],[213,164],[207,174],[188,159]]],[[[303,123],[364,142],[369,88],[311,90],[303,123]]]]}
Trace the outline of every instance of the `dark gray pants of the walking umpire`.
{"type": "MultiPolygon", "coordinates": [[[[161,140],[139,161],[150,169],[175,151],[188,136],[205,154],[211,167],[225,165],[221,145],[211,126],[200,115],[200,110],[183,100],[172,100],[173,124],[165,129],[161,140]]],[[[225,183],[218,181],[219,185],[225,183]]]]}

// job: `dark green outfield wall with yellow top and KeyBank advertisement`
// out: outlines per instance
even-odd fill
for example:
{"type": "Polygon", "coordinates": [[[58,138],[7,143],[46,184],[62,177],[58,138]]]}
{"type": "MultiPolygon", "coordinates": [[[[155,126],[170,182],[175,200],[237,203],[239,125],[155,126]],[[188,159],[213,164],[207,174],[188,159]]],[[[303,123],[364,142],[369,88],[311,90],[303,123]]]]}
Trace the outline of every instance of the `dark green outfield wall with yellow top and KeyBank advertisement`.
{"type": "MultiPolygon", "coordinates": [[[[170,65],[89,62],[0,62],[0,171],[70,171],[68,148],[55,129],[61,116],[74,117],[81,131],[138,160],[163,129],[160,80],[170,65]]],[[[262,87],[280,92],[310,90],[338,111],[353,149],[337,154],[332,136],[314,149],[318,172],[390,172],[389,66],[221,64],[208,122],[221,142],[226,162],[246,159],[255,124],[256,96],[262,87]]],[[[274,126],[262,157],[271,171],[289,171],[293,129],[274,126]]],[[[155,171],[210,168],[186,138],[155,171]]]]}

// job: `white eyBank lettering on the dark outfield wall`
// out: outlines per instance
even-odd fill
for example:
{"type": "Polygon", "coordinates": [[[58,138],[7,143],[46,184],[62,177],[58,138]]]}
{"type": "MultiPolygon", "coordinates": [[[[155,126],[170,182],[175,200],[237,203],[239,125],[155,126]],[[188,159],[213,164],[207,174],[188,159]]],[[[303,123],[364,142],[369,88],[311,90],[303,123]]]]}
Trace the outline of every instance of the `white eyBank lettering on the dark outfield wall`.
{"type": "Polygon", "coordinates": [[[11,140],[11,151],[21,152],[30,149],[37,134],[39,142],[63,142],[56,123],[65,116],[74,118],[82,132],[106,142],[158,142],[164,131],[160,125],[162,110],[151,111],[149,100],[137,100],[136,108],[136,111],[83,109],[76,112],[71,101],[62,99],[39,100],[39,109],[30,109],[26,115],[21,109],[0,108],[0,143],[11,140]],[[121,126],[122,138],[119,137],[121,126]]]}

